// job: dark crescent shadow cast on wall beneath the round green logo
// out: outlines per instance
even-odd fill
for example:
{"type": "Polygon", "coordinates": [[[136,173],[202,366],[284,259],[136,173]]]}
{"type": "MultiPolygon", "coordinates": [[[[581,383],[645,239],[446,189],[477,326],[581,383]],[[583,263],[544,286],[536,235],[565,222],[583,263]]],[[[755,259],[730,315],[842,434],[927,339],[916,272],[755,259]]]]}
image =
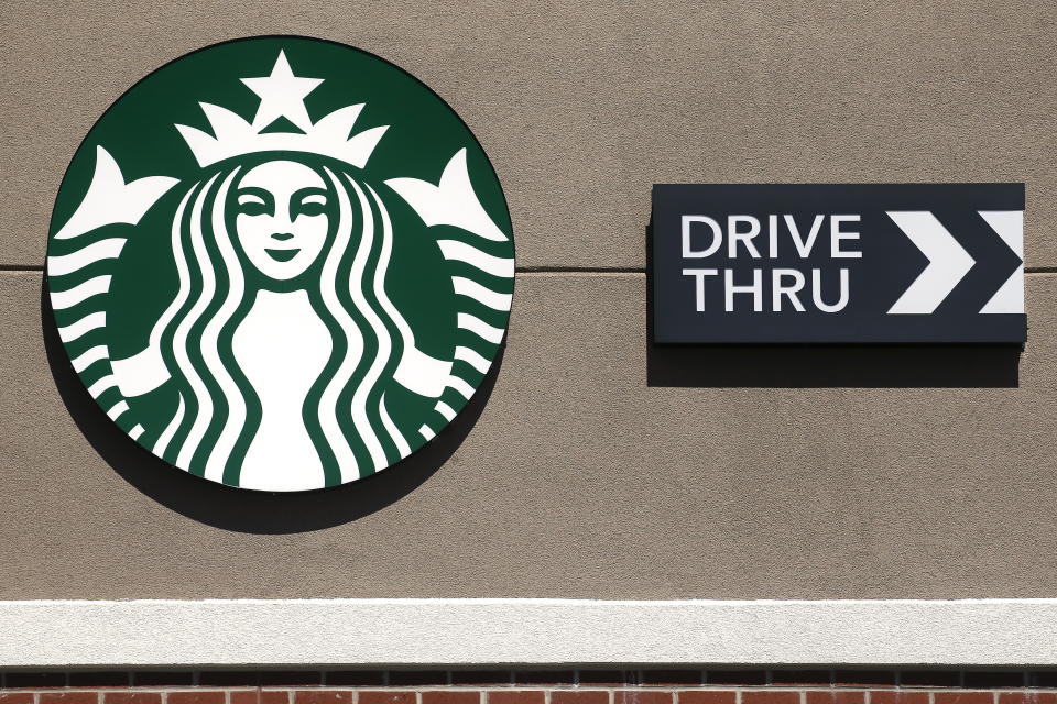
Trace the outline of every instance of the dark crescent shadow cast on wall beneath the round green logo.
{"type": "Polygon", "coordinates": [[[429,479],[459,448],[492,393],[505,348],[470,403],[437,437],[383,472],[331,488],[291,494],[238,490],[190,475],[160,460],[124,435],[91,398],[66,356],[51,302],[41,286],[41,320],[47,363],[74,422],[96,452],[129,484],[194,520],[253,534],[330,528],[380,510],[429,479]]]}

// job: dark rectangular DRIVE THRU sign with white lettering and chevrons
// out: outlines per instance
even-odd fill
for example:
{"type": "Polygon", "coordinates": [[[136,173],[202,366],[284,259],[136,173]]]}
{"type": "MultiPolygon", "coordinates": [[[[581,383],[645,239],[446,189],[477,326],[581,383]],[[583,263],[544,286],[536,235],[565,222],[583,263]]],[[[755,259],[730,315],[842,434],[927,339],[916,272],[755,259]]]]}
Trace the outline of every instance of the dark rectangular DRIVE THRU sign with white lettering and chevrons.
{"type": "Polygon", "coordinates": [[[658,184],[658,343],[1023,343],[1023,184],[658,184]]]}

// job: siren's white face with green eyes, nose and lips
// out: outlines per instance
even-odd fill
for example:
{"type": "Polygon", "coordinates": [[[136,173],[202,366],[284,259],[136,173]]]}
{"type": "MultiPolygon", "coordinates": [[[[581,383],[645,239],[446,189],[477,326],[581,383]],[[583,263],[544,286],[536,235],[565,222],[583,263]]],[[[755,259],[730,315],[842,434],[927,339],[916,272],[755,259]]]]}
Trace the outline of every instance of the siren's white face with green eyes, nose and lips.
{"type": "Polygon", "coordinates": [[[253,266],[279,280],[312,266],[327,240],[328,197],[319,174],[297,162],[248,170],[235,190],[235,229],[253,266]]]}

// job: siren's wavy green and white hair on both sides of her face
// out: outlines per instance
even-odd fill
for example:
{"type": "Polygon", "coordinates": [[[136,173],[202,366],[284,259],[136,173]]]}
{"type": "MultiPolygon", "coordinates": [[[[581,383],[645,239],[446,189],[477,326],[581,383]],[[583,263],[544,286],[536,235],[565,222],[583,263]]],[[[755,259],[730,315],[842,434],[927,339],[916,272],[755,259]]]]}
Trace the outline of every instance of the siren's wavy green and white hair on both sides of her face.
{"type": "MultiPolygon", "coordinates": [[[[350,174],[316,170],[336,199],[337,215],[330,218],[322,263],[309,268],[320,274],[307,277],[318,280],[318,288],[309,285],[307,292],[333,348],[302,415],[326,484],[334,485],[378,471],[410,451],[385,410],[380,384],[393,375],[410,330],[384,290],[392,252],[385,206],[350,174]]],[[[261,410],[232,352],[235,331],[255,298],[252,279],[259,276],[229,233],[228,196],[238,172],[215,174],[184,196],[172,229],[179,289],[151,336],[179,392],[155,454],[226,484],[239,483],[261,410]]]]}

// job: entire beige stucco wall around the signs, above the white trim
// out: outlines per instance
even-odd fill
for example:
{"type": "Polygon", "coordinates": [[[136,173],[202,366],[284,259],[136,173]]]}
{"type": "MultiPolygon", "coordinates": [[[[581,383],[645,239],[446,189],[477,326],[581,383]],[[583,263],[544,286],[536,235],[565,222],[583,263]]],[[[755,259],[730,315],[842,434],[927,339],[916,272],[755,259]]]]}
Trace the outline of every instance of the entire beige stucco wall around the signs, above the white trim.
{"type": "MultiPolygon", "coordinates": [[[[6,4],[0,598],[1057,596],[1050,3],[697,6],[6,4]],[[526,270],[491,398],[450,458],[355,520],[283,535],[199,520],[111,469],[40,319],[53,197],[95,118],[179,54],[268,32],[367,48],[447,99],[497,167],[526,270]],[[879,378],[853,369],[771,388],[717,351],[647,355],[650,185],[795,180],[1025,182],[1018,366],[951,351],[947,366],[1004,371],[933,358],[900,377],[922,388],[852,388],[879,378]],[[695,371],[723,364],[744,386],[695,371]]],[[[818,354],[797,359],[832,364],[818,354]]]]}

